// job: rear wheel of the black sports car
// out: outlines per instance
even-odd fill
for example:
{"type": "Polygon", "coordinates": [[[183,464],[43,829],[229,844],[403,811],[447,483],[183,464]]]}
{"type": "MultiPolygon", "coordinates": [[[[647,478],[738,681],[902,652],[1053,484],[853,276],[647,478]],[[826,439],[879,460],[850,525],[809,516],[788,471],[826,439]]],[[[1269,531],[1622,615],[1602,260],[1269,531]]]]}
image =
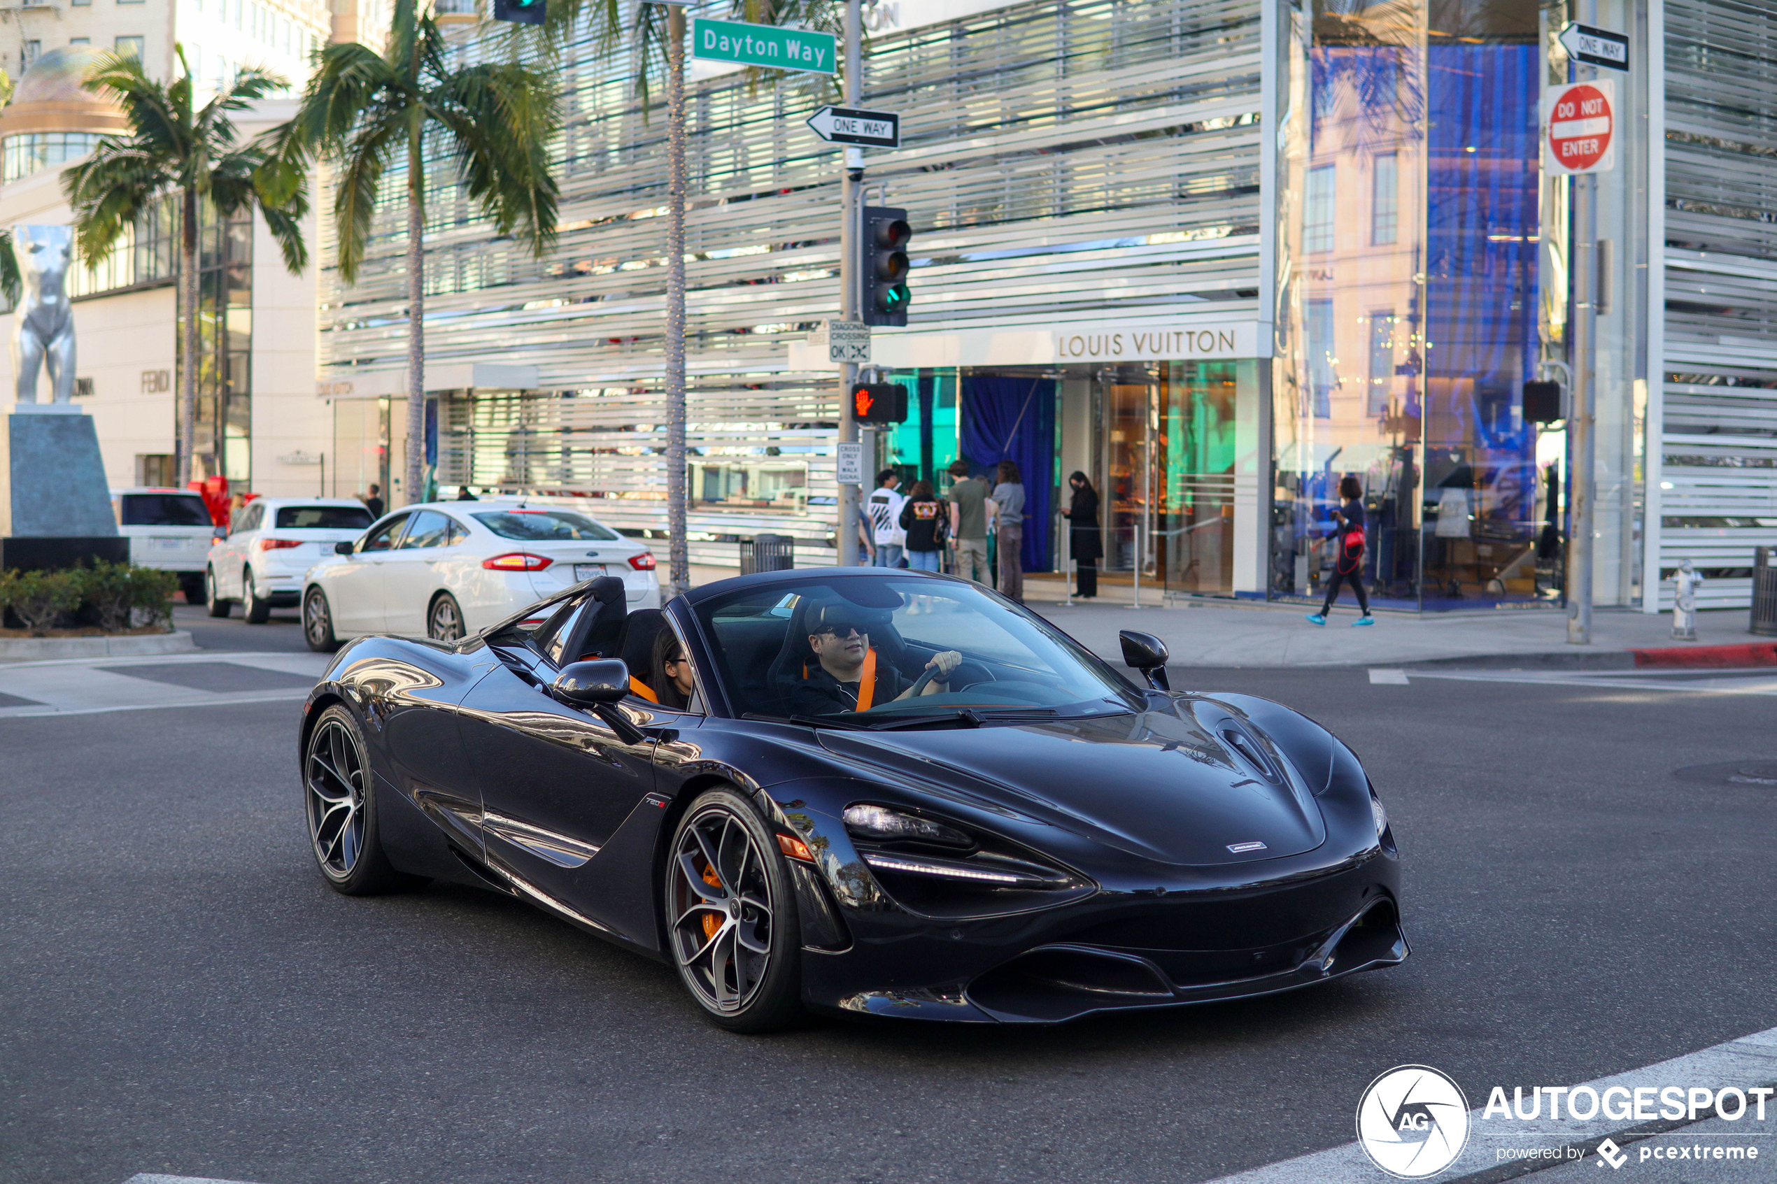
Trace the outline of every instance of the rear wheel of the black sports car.
{"type": "Polygon", "coordinates": [[[423,884],[382,852],[377,786],[352,714],[334,703],[315,722],[302,758],[302,801],[309,847],[327,884],[347,896],[370,896],[423,884]]]}

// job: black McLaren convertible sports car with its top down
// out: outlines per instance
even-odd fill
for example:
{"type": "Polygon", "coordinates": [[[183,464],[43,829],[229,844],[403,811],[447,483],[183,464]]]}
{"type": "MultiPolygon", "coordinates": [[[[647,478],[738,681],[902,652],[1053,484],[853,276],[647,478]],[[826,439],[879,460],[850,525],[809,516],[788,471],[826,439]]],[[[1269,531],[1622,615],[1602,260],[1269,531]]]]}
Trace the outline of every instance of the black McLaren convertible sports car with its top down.
{"type": "Polygon", "coordinates": [[[1166,648],[1091,655],[967,580],[595,579],[462,641],[361,637],[302,710],[341,893],[492,888],[665,960],[720,1026],[1059,1022],[1407,957],[1349,747],[1166,648]]]}

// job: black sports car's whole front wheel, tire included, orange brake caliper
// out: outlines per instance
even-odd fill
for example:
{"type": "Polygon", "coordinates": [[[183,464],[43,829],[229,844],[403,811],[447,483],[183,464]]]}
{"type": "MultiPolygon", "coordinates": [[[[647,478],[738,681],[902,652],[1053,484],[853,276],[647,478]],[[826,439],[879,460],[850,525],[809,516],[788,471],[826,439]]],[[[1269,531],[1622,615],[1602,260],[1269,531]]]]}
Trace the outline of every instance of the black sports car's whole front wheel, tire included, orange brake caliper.
{"type": "Polygon", "coordinates": [[[673,833],[661,895],[679,982],[729,1031],[801,1014],[801,927],[771,829],[734,786],[700,795],[673,833]]]}

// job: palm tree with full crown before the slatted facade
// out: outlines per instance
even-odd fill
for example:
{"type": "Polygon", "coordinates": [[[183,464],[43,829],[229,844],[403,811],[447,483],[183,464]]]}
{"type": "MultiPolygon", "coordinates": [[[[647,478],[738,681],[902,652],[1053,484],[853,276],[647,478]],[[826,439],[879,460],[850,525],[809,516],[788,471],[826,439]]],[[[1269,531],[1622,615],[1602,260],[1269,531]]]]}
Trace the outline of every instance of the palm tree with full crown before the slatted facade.
{"type": "MultiPolygon", "coordinates": [[[[514,55],[515,57],[515,55],[514,55]]],[[[469,197],[501,234],[517,231],[538,256],[556,236],[549,147],[562,128],[551,78],[517,60],[451,64],[437,23],[414,0],[396,0],[384,53],[327,46],[297,117],[274,133],[265,170],[286,192],[309,158],[334,170],[339,279],[357,280],[384,172],[407,165],[407,485],[419,501],[425,433],[426,154],[457,169],[469,197]]]]}

